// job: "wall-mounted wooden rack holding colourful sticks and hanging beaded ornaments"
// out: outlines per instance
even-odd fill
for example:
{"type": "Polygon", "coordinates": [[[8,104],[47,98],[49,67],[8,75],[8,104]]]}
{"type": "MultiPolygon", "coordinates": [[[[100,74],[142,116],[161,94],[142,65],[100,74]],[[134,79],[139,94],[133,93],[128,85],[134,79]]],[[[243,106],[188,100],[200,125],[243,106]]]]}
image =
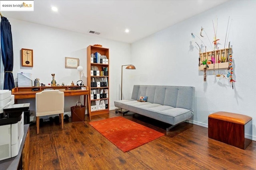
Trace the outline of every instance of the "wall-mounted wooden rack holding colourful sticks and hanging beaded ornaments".
{"type": "Polygon", "coordinates": [[[230,42],[228,42],[230,25],[229,17],[224,42],[217,37],[218,18],[216,18],[216,21],[212,20],[212,30],[214,31],[212,40],[208,37],[204,27],[200,29],[200,36],[195,33],[191,33],[191,35],[192,39],[195,40],[196,47],[199,49],[198,68],[204,71],[204,81],[206,81],[206,70],[213,70],[213,74],[216,77],[228,79],[232,84],[232,88],[234,88],[233,82],[235,82],[235,80],[232,76],[234,71],[232,66],[232,47],[230,46],[230,42]],[[204,41],[209,41],[210,45],[206,46],[204,41]],[[198,45],[198,43],[200,43],[200,45],[198,45]],[[220,46],[222,46],[222,49],[220,49],[220,46]],[[228,70],[228,74],[220,74],[220,69],[228,70]]]}

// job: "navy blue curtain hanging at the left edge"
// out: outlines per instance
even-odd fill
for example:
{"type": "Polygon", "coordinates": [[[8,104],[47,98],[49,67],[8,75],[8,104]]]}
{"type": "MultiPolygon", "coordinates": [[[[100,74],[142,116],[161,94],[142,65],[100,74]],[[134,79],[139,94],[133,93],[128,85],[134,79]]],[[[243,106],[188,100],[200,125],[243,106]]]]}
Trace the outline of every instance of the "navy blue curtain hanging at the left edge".
{"type": "Polygon", "coordinates": [[[13,68],[13,49],[12,49],[12,31],[7,18],[1,18],[1,54],[4,64],[4,89],[12,90],[14,80],[12,75],[13,68]]]}

